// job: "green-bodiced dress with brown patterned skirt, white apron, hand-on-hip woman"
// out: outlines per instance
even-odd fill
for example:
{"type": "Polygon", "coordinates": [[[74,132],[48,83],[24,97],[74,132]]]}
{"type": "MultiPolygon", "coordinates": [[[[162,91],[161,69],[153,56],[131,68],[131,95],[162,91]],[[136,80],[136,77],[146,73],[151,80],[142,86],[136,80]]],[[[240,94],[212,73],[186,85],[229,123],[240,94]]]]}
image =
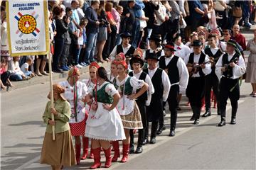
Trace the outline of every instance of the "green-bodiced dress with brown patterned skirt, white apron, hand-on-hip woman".
{"type": "Polygon", "coordinates": [[[127,96],[135,94],[137,89],[141,89],[144,85],[144,81],[136,79],[135,77],[127,76],[122,81],[119,81],[118,78],[114,79],[113,84],[122,96],[117,104],[117,111],[121,116],[124,128],[142,129],[142,118],[139,113],[137,103],[135,100],[131,100],[127,96]]]}

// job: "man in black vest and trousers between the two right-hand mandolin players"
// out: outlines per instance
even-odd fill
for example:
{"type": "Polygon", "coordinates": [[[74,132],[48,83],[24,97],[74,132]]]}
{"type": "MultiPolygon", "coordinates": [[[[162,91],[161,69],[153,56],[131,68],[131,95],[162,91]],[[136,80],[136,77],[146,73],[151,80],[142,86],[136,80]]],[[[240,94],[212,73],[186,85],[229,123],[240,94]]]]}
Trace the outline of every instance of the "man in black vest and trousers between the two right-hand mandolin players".
{"type": "MultiPolygon", "coordinates": [[[[203,114],[202,117],[208,117],[211,115],[210,113],[210,92],[211,89],[213,88],[213,94],[215,94],[216,101],[217,101],[217,107],[220,106],[219,103],[219,81],[218,77],[215,74],[215,64],[218,62],[218,59],[220,58],[221,55],[223,55],[223,51],[221,51],[217,47],[217,41],[216,41],[216,36],[210,34],[208,36],[208,47],[205,49],[206,55],[210,57],[211,60],[211,69],[212,71],[210,74],[208,74],[205,77],[205,101],[206,101],[206,113],[203,114]]],[[[219,108],[217,110],[218,115],[220,114],[219,108]]]]}

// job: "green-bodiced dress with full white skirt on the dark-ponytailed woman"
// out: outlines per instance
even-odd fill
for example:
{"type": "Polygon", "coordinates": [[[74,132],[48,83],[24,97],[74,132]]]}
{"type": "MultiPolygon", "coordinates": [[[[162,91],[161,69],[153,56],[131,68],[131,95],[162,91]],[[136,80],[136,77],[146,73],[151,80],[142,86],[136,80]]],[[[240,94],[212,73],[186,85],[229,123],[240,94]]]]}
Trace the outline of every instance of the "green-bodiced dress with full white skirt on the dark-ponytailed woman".
{"type": "Polygon", "coordinates": [[[113,84],[105,81],[102,85],[97,85],[90,94],[97,102],[97,110],[90,109],[89,116],[86,121],[85,136],[94,140],[125,140],[124,128],[117,109],[107,111],[103,108],[103,104],[113,103],[113,96],[118,91],[113,84]]]}

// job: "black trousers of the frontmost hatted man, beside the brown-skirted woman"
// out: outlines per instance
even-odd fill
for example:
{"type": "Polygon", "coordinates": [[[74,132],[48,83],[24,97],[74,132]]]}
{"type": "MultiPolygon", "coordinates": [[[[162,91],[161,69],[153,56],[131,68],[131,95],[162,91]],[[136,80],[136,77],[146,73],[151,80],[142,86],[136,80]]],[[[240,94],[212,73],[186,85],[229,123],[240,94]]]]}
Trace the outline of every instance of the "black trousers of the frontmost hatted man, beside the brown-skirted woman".
{"type": "MultiPolygon", "coordinates": [[[[146,120],[146,101],[136,101],[138,107],[139,107],[139,112],[141,113],[142,117],[142,125],[143,129],[139,129],[139,135],[138,135],[138,147],[142,147],[143,140],[145,138],[145,129],[147,126],[147,120],[146,120]]],[[[133,130],[130,130],[130,145],[134,145],[134,132],[133,130]]]]}

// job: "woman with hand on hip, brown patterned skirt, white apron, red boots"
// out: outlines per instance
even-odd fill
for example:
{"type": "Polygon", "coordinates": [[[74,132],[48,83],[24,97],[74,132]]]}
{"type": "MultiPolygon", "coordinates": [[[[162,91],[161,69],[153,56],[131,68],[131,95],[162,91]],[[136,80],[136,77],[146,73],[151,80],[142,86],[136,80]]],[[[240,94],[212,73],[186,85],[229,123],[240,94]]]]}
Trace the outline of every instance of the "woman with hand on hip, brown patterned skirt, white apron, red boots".
{"type": "MultiPolygon", "coordinates": [[[[142,129],[142,118],[139,113],[139,108],[135,103],[135,98],[138,98],[148,89],[148,84],[143,80],[136,79],[135,77],[129,77],[127,75],[127,63],[124,61],[117,64],[118,76],[114,79],[113,84],[118,90],[121,98],[117,104],[117,111],[121,115],[122,123],[124,126],[124,132],[126,140],[123,140],[123,157],[121,162],[127,162],[129,153],[129,130],[142,129]],[[137,91],[137,89],[140,89],[137,91]]],[[[119,143],[112,142],[114,146],[114,157],[112,162],[117,162],[119,157],[119,143]]]]}

